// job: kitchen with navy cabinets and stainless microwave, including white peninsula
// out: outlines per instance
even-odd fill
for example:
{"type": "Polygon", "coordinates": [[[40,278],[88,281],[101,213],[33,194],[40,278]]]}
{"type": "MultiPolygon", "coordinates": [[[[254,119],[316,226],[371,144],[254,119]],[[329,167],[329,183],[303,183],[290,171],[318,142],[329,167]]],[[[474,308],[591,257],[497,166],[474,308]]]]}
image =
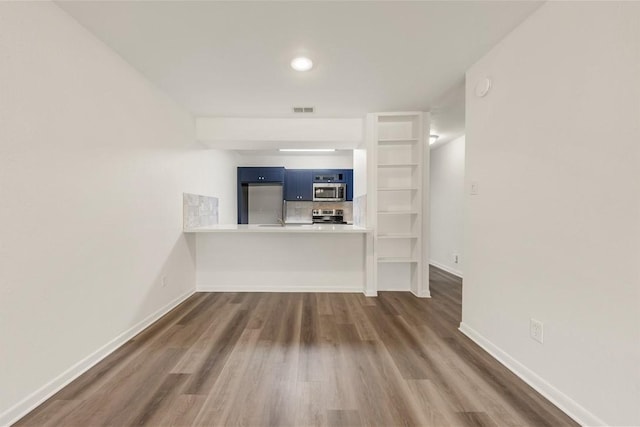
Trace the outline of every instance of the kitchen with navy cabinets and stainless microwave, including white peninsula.
{"type": "Polygon", "coordinates": [[[224,200],[192,195],[192,206],[185,202],[196,288],[375,296],[367,288],[373,241],[363,224],[366,197],[354,201],[353,151],[239,152],[235,223],[218,221],[224,200]]]}

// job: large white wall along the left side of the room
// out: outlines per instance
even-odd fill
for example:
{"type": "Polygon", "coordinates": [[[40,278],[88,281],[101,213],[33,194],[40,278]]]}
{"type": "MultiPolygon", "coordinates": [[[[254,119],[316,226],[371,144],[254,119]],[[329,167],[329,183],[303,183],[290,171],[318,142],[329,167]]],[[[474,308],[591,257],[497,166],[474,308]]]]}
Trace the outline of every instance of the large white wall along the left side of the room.
{"type": "Polygon", "coordinates": [[[0,3],[0,425],[194,290],[182,192],[235,180],[231,154],[194,141],[186,111],[53,3],[0,3]]]}

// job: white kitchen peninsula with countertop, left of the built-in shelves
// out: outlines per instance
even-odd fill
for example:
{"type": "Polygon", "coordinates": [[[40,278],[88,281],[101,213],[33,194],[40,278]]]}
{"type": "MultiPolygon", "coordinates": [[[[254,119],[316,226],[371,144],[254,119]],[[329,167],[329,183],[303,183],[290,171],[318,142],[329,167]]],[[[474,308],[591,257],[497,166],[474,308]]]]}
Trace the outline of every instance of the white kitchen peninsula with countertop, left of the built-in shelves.
{"type": "Polygon", "coordinates": [[[199,291],[376,295],[373,238],[366,228],[223,224],[184,231],[193,235],[199,291]]]}

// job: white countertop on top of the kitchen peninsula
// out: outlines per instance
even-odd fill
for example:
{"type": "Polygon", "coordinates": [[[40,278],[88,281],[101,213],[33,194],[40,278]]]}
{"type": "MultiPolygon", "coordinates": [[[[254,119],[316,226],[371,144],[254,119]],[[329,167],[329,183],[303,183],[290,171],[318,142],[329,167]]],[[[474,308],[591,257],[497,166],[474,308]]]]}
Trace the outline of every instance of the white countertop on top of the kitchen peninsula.
{"type": "Polygon", "coordinates": [[[370,229],[348,224],[218,224],[184,229],[185,233],[368,233],[370,229]]]}

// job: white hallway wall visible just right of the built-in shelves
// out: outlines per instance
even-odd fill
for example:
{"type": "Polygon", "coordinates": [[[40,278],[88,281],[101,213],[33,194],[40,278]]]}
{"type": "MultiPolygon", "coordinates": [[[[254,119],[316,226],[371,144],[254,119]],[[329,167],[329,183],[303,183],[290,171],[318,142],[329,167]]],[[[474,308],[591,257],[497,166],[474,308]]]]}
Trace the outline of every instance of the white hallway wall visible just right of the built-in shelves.
{"type": "Polygon", "coordinates": [[[431,150],[430,263],[462,277],[464,136],[431,150]],[[458,255],[458,263],[454,262],[458,255]]]}

